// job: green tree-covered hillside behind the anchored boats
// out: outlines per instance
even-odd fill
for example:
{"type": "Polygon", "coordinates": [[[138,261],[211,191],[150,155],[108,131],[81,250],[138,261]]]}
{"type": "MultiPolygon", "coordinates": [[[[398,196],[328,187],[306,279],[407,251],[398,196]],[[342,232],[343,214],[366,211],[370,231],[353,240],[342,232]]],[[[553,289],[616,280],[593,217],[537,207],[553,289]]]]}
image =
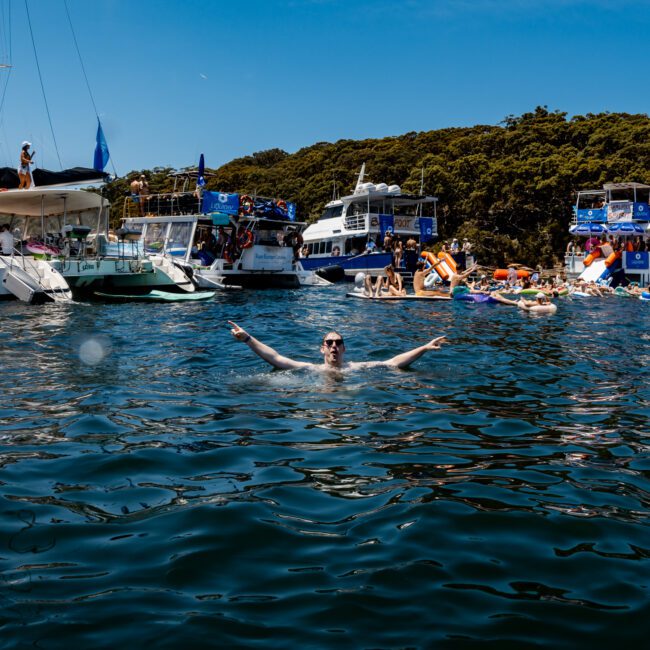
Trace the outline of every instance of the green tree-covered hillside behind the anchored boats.
{"type": "MultiPolygon", "coordinates": [[[[353,189],[363,162],[367,180],[414,193],[424,169],[424,192],[439,198],[441,239],[469,237],[484,263],[550,266],[569,237],[577,190],[617,181],[650,184],[650,118],[604,113],[567,119],[538,107],[498,126],[320,142],[294,154],[273,149],[209,170],[215,175],[208,189],[295,201],[299,218],[310,221],[331,199],[334,182],[341,194],[353,189]]],[[[169,171],[145,170],[152,192],[171,189],[169,171]]],[[[130,180],[105,190],[115,217],[130,180]]]]}

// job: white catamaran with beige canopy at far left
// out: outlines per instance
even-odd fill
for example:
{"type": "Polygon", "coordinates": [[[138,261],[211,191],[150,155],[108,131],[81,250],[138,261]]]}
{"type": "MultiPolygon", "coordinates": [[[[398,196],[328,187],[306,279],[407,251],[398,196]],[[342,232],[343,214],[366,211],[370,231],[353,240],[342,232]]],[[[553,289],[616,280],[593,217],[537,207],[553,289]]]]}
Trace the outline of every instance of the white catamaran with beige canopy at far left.
{"type": "MultiPolygon", "coordinates": [[[[20,273],[18,268],[23,284],[27,274],[44,287],[32,286],[30,302],[42,300],[40,294],[46,299],[50,295],[69,299],[70,290],[83,297],[95,291],[195,289],[181,269],[147,258],[137,242],[128,241],[128,235],[109,241],[108,207],[105,198],[81,189],[50,186],[0,192],[0,223],[6,223],[17,240],[10,275],[7,256],[1,265],[3,278],[8,278],[3,293],[16,295],[12,288],[22,287],[11,277],[20,273]]],[[[25,289],[20,292],[23,300],[29,295],[25,289]]]]}

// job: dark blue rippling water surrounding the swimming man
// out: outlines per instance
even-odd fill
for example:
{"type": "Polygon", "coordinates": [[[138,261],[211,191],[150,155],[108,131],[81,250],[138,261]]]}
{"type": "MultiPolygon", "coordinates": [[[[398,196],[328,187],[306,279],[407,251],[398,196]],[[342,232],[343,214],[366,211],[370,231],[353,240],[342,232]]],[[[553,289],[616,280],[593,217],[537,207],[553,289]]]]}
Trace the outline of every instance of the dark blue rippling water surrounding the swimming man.
{"type": "Polygon", "coordinates": [[[648,309],[0,304],[0,646],[640,646],[648,309]]]}

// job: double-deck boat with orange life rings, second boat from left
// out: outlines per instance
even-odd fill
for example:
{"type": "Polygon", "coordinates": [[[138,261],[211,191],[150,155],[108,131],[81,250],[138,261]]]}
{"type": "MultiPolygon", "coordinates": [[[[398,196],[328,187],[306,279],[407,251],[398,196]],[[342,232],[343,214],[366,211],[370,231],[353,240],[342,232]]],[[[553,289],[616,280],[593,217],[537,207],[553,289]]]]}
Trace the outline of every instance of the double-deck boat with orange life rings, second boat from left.
{"type": "Polygon", "coordinates": [[[125,199],[123,225],[143,252],[171,261],[204,289],[294,288],[311,273],[296,263],[304,223],[282,200],[210,191],[146,197],[134,216],[125,199]]]}

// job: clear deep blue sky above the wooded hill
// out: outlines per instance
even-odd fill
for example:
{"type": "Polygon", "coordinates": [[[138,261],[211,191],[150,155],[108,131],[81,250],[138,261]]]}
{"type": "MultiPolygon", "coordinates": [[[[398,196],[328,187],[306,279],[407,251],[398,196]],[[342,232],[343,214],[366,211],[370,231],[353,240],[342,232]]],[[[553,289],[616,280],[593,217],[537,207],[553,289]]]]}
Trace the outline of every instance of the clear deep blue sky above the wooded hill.
{"type": "MultiPolygon", "coordinates": [[[[194,165],[201,152],[217,167],[274,147],[498,124],[537,105],[569,115],[650,106],[648,0],[67,6],[120,175],[194,165]]],[[[27,139],[42,166],[60,169],[25,0],[0,7],[0,63],[13,66],[7,84],[0,70],[0,165],[15,166],[27,139]]],[[[64,0],[27,7],[61,162],[92,166],[95,109],[64,0]]]]}

